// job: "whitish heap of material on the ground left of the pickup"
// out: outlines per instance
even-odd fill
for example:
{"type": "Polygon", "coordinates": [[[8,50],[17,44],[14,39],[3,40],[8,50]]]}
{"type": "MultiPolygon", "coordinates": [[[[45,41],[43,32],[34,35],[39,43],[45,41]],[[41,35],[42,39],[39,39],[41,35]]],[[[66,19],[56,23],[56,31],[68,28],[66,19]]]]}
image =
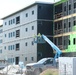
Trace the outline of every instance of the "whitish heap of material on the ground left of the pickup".
{"type": "Polygon", "coordinates": [[[23,69],[19,65],[8,65],[4,69],[0,70],[0,75],[16,75],[23,74],[23,69]]]}

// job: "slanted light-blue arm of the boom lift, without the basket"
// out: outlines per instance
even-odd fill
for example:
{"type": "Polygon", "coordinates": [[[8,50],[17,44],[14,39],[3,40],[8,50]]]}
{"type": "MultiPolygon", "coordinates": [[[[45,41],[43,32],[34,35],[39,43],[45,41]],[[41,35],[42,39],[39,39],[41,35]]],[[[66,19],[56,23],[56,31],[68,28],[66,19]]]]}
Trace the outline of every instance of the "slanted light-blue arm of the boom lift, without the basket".
{"type": "MultiPolygon", "coordinates": [[[[60,57],[61,55],[61,50],[51,41],[49,40],[45,35],[41,35],[41,36],[38,36],[39,40],[40,39],[43,39],[44,41],[46,41],[55,51],[56,51],[56,54],[54,56],[54,59],[60,57]]],[[[38,39],[37,39],[38,40],[38,39]]],[[[37,40],[35,40],[35,43],[38,43],[37,40]]]]}

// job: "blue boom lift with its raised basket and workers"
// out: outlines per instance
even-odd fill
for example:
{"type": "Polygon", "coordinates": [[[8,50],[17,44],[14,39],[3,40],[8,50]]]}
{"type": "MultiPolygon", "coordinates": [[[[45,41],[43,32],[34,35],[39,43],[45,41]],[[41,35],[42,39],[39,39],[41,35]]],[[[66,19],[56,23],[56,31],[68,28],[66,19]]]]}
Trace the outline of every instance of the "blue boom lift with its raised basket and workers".
{"type": "Polygon", "coordinates": [[[61,55],[61,50],[51,41],[51,40],[49,40],[45,35],[41,35],[40,33],[37,35],[37,36],[35,36],[35,38],[34,38],[34,42],[35,43],[45,43],[45,42],[47,42],[52,48],[53,48],[53,50],[55,50],[56,51],[56,54],[55,54],[55,56],[54,56],[54,59],[56,59],[56,58],[59,58],[60,57],[60,55],[61,55]]]}

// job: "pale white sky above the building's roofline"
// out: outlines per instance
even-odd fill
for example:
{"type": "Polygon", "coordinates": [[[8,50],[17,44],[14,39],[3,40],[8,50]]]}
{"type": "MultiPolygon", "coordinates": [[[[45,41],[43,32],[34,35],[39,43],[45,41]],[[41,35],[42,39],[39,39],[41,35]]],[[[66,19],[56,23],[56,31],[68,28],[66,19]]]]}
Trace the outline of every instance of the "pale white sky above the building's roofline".
{"type": "MultiPolygon", "coordinates": [[[[54,2],[54,0],[0,0],[0,18],[27,7],[36,1],[50,3],[54,2]]],[[[0,23],[2,23],[2,21],[0,21],[0,23]]]]}

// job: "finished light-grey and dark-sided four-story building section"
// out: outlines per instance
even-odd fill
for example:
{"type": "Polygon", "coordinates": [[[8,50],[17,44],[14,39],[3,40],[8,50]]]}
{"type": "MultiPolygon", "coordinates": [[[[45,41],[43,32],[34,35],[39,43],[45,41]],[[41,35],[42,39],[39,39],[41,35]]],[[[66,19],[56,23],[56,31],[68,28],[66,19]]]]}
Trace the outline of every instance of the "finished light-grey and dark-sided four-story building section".
{"type": "MultiPolygon", "coordinates": [[[[36,2],[3,19],[3,49],[1,58],[8,62],[25,64],[43,57],[52,57],[47,44],[33,42],[38,33],[53,35],[53,4],[36,2]],[[51,13],[51,14],[50,14],[51,13]]],[[[50,38],[53,41],[53,37],[50,38]]]]}

